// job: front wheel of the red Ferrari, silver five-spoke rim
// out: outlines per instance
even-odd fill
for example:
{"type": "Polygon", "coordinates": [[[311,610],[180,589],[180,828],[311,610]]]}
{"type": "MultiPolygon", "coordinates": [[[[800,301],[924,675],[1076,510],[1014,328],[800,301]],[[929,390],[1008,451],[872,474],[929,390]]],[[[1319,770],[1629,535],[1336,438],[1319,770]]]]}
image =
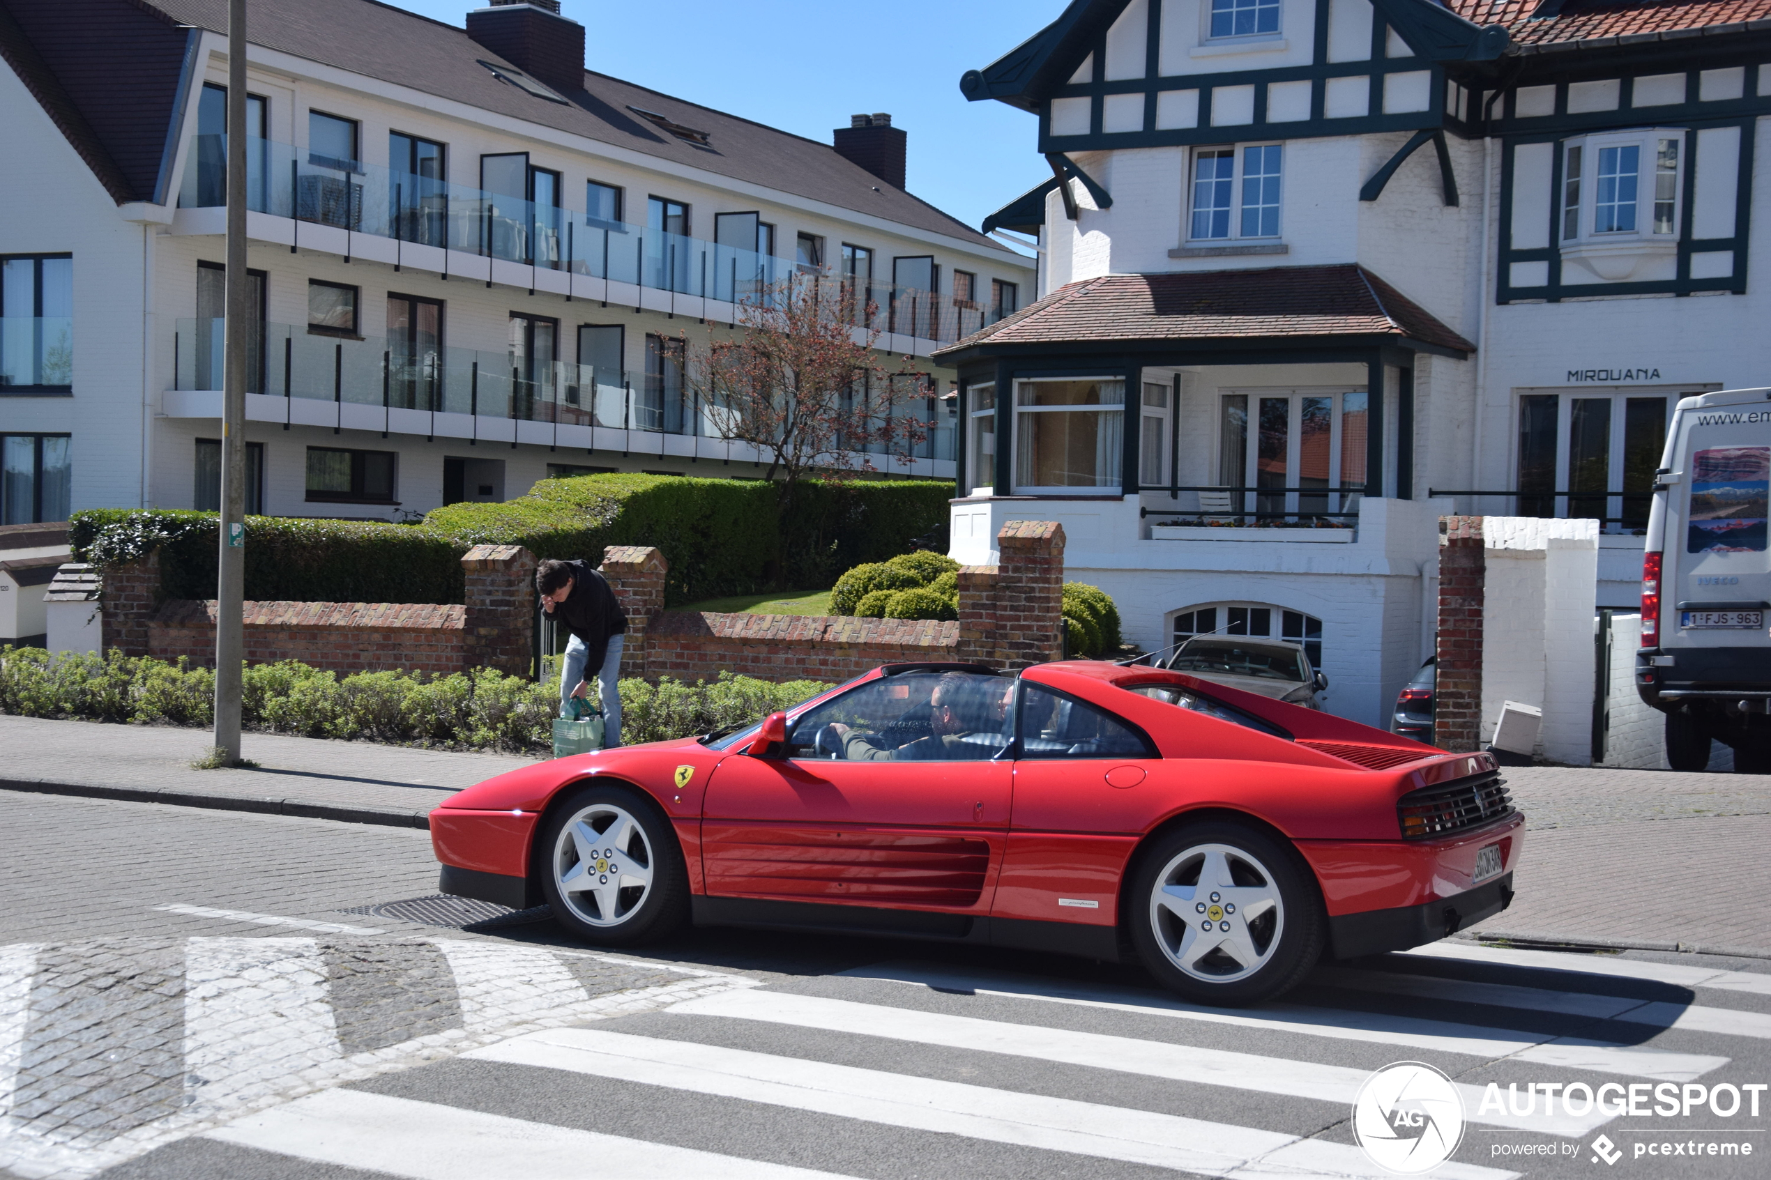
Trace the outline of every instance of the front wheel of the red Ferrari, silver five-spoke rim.
{"type": "Polygon", "coordinates": [[[590,943],[662,938],[689,916],[689,872],[659,807],[630,787],[593,784],[561,803],[540,840],[554,918],[590,943]]]}

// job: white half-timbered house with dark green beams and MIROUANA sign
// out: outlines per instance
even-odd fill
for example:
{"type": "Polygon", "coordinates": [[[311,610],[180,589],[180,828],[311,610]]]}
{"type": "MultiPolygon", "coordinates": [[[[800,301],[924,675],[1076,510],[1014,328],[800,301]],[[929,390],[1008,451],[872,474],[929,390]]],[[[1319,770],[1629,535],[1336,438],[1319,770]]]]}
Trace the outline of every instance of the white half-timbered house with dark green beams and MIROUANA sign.
{"type": "Polygon", "coordinates": [[[1766,384],[1767,0],[1075,0],[960,87],[1054,177],[985,223],[1040,299],[935,352],[953,552],[1064,520],[1149,649],[1295,639],[1387,724],[1442,513],[1601,518],[1635,609],[1675,402],[1766,384]]]}

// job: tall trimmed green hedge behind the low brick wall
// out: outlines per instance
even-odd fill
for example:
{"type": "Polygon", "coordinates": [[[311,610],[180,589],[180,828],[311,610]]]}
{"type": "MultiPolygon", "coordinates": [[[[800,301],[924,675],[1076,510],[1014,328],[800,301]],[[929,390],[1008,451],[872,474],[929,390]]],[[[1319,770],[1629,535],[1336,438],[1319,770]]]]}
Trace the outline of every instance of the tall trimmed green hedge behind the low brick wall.
{"type": "MultiPolygon", "coordinates": [[[[827,586],[850,564],[880,561],[939,527],[949,483],[802,483],[783,506],[760,479],[574,476],[542,479],[505,504],[450,504],[421,525],[246,518],[246,598],[459,603],[460,556],[524,545],[537,557],[600,561],[607,545],[655,545],[669,561],[666,603],[827,586]]],[[[161,550],[170,598],[211,598],[216,513],[74,513],[81,561],[161,550]]]]}

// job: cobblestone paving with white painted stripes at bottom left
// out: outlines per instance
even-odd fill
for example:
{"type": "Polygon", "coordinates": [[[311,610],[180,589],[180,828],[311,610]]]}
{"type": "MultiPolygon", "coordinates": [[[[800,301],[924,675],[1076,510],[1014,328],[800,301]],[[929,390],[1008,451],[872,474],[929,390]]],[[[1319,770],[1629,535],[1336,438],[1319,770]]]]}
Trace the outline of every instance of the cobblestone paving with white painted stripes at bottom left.
{"type": "Polygon", "coordinates": [[[753,982],[471,936],[4,950],[0,1168],[67,1180],[317,1088],[753,982]]]}

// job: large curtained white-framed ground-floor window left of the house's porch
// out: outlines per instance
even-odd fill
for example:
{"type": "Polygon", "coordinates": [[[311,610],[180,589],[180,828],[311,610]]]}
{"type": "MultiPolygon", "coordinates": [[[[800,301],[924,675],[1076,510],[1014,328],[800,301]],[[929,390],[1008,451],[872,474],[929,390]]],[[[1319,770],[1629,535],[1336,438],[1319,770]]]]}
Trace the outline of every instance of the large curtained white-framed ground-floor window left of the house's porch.
{"type": "Polygon", "coordinates": [[[1015,494],[1121,488],[1125,380],[1015,384],[1015,494]]]}

